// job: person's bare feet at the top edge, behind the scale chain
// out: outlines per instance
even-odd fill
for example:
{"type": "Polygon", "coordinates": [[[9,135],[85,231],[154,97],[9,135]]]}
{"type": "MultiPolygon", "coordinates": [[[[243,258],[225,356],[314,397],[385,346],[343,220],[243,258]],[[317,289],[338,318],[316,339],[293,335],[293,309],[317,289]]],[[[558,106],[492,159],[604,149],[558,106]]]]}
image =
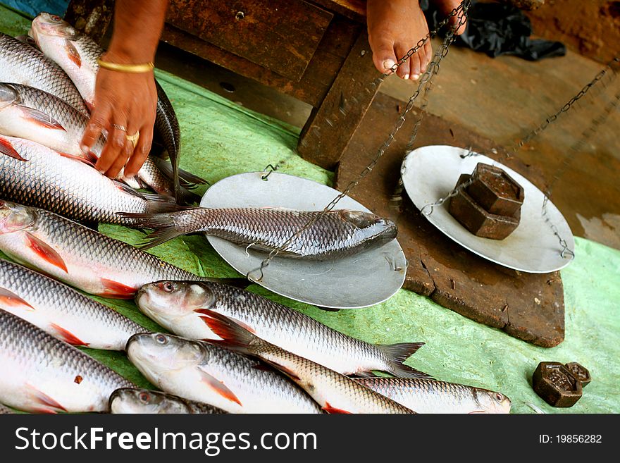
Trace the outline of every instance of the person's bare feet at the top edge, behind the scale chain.
{"type": "MultiPolygon", "coordinates": [[[[460,0],[435,0],[440,11],[447,15],[461,4],[460,0]]],[[[428,35],[428,25],[418,0],[367,0],[368,42],[373,51],[373,62],[380,73],[387,73],[409,49],[428,35]]],[[[457,23],[452,18],[450,24],[457,23]]],[[[461,27],[458,34],[463,32],[461,27]]],[[[433,58],[430,41],[426,42],[408,61],[402,63],[397,75],[403,79],[418,80],[433,58]]]]}

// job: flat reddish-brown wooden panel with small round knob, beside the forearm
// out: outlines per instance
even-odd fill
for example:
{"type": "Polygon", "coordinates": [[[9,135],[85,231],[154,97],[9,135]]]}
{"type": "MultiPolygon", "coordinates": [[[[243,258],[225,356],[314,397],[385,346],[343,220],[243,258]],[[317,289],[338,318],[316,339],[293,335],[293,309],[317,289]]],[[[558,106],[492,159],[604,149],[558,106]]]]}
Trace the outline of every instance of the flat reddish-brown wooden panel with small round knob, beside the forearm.
{"type": "Polygon", "coordinates": [[[332,18],[303,0],[171,0],[166,21],[299,81],[332,18]]]}

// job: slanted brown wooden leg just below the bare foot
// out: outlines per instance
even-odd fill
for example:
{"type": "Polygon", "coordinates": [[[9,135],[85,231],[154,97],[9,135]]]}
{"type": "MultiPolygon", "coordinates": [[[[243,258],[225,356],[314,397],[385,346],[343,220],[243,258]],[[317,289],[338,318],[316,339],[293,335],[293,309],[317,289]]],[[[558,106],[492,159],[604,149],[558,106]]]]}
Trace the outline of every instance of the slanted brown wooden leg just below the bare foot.
{"type": "Polygon", "coordinates": [[[304,159],[333,169],[368,111],[379,86],[368,35],[361,32],[327,96],[310,116],[297,150],[304,159]]]}

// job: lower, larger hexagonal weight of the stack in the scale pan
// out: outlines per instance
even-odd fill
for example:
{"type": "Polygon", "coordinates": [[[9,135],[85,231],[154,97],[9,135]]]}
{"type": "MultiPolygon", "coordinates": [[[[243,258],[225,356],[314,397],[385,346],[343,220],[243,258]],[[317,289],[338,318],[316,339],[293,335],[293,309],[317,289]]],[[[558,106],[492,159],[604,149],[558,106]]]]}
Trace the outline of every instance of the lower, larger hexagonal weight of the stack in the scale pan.
{"type": "MultiPolygon", "coordinates": [[[[470,177],[471,175],[467,173],[461,174],[457,187],[466,183],[470,177]]],[[[512,217],[491,214],[476,203],[466,188],[459,190],[456,196],[450,198],[448,211],[471,233],[491,240],[503,240],[519,226],[521,219],[521,209],[518,209],[512,217]]]]}

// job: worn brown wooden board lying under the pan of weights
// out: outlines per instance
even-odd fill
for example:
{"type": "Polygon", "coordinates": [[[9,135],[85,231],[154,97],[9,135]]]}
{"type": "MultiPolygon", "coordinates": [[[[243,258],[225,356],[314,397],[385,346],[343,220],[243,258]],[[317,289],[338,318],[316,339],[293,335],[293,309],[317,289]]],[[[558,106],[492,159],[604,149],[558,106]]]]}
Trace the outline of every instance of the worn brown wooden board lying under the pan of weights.
{"type": "MultiPolygon", "coordinates": [[[[403,106],[391,97],[377,95],[342,156],[335,185],[338,190],[366,167],[403,106]]],[[[404,149],[418,114],[407,118],[376,168],[351,193],[376,214],[397,223],[398,240],[409,263],[404,288],[516,338],[543,347],[558,345],[564,340],[564,292],[559,272],[521,273],[478,257],[443,235],[421,216],[406,193],[397,191],[404,149]]],[[[428,144],[471,146],[494,157],[491,140],[425,114],[414,146],[428,144]]],[[[531,166],[514,159],[507,164],[544,187],[540,173],[531,166]]]]}

